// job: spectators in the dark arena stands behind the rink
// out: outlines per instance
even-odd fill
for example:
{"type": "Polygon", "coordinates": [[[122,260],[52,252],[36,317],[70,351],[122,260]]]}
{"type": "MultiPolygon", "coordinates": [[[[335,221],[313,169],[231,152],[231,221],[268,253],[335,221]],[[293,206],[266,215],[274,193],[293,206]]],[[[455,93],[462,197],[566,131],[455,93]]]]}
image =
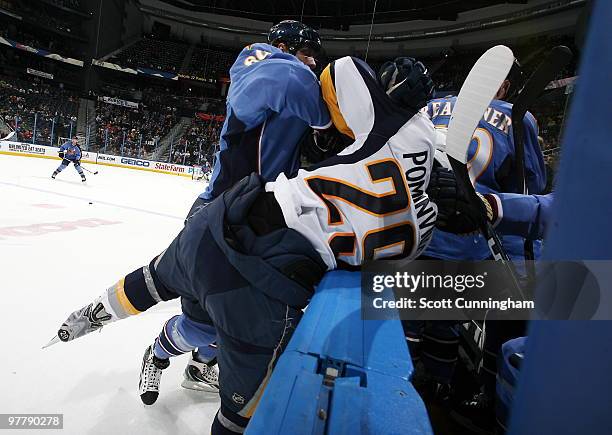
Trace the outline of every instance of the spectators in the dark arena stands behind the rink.
{"type": "MultiPolygon", "coordinates": [[[[8,1],[8,0],[0,0],[8,1]]],[[[67,7],[79,7],[78,0],[56,0],[56,4],[67,7]]],[[[40,40],[38,35],[16,29],[0,30],[0,35],[19,38],[20,42],[31,44],[50,51],[60,51],[60,41],[53,37],[40,40]]],[[[541,57],[548,48],[559,43],[568,43],[567,37],[538,38],[529,44],[518,47],[515,53],[528,62],[530,56],[541,57]]],[[[12,64],[20,64],[21,52],[10,48],[0,50],[0,60],[10,51],[12,64]],[[16,59],[14,58],[16,57],[16,59]]],[[[455,93],[461,87],[471,65],[479,57],[478,50],[449,49],[440,56],[421,59],[432,72],[435,83],[436,96],[455,93]]],[[[24,55],[25,56],[25,55],[24,55]]],[[[216,80],[229,75],[236,53],[203,46],[194,46],[192,50],[186,43],[160,40],[153,36],[145,36],[126,49],[115,55],[114,59],[124,65],[132,67],[147,67],[162,71],[181,73],[184,78],[192,80],[216,80]],[[186,59],[188,53],[191,57],[186,59]]],[[[25,59],[28,65],[45,71],[46,59],[29,56],[25,59]],[[32,59],[34,57],[34,59],[32,59]]],[[[112,59],[111,59],[112,61],[112,59]]],[[[537,63],[537,62],[531,62],[537,63]]],[[[377,69],[379,64],[374,61],[372,67],[377,69]]],[[[570,77],[575,74],[576,65],[572,64],[564,71],[559,72],[559,78],[570,77]]],[[[25,70],[25,68],[23,68],[25,70]]],[[[529,70],[525,71],[528,76],[529,70]]],[[[137,82],[131,77],[123,77],[116,82],[107,82],[98,91],[90,93],[89,98],[96,99],[95,117],[90,123],[94,127],[90,134],[92,147],[107,153],[121,153],[126,156],[152,158],[160,143],[164,142],[164,150],[156,155],[178,164],[204,164],[212,165],[213,155],[218,147],[219,133],[222,121],[218,118],[203,120],[195,116],[197,112],[212,115],[224,115],[222,100],[212,105],[205,103],[201,96],[191,95],[189,86],[181,86],[180,82],[153,81],[144,84],[141,79],[137,82]],[[108,104],[97,100],[98,96],[121,98],[135,102],[138,108],[123,107],[108,104]],[[183,119],[191,119],[186,128],[177,128],[183,119]],[[172,136],[170,135],[172,133],[172,136]],[[176,135],[176,136],[174,136],[176,135]],[[164,138],[166,140],[164,140],[164,138]]],[[[52,82],[45,82],[37,77],[28,77],[27,81],[4,78],[0,82],[0,115],[11,127],[16,128],[18,138],[31,141],[34,127],[34,114],[37,113],[37,143],[51,142],[52,125],[55,129],[54,137],[68,136],[75,132],[78,97],[62,87],[52,86],[52,82]]],[[[210,86],[210,85],[208,85],[210,86]]],[[[532,112],[539,121],[540,135],[543,139],[543,149],[547,156],[547,163],[557,155],[559,138],[564,120],[564,106],[566,96],[562,90],[551,93],[551,97],[542,101],[532,112]]],[[[89,115],[88,115],[89,117],[89,115]]],[[[89,119],[88,119],[89,123],[89,119]]],[[[184,126],[183,126],[184,127],[184,126]]],[[[55,143],[54,143],[55,145],[55,143]]]]}

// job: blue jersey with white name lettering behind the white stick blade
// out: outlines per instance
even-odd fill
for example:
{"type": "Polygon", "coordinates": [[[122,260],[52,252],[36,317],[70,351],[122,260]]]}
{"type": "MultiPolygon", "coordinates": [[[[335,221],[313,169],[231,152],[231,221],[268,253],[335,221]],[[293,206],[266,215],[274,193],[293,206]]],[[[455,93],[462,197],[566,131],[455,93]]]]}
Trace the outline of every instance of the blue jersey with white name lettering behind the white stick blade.
{"type": "MultiPolygon", "coordinates": [[[[437,129],[444,131],[448,128],[456,100],[456,97],[445,97],[431,100],[427,104],[427,112],[437,129]]],[[[493,100],[474,132],[468,153],[468,170],[478,192],[522,193],[519,192],[520,183],[516,177],[511,114],[512,104],[493,100]]],[[[527,186],[529,193],[538,194],[546,186],[546,169],[538,143],[538,126],[529,112],[523,120],[523,125],[527,186]]],[[[521,213],[520,204],[519,207],[512,207],[504,212],[521,213]]],[[[523,258],[521,237],[503,236],[502,242],[511,258],[523,258]]],[[[459,236],[436,230],[425,255],[448,260],[484,260],[489,258],[491,253],[481,235],[459,236]]]]}

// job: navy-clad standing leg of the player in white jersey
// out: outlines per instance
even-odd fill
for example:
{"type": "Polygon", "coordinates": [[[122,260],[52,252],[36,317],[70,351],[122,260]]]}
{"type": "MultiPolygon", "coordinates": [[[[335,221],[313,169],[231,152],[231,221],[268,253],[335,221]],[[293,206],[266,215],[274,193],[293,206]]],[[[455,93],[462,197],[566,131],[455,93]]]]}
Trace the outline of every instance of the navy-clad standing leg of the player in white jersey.
{"type": "Polygon", "coordinates": [[[211,433],[242,433],[302,311],[253,287],[211,295],[207,307],[219,337],[221,397],[211,433]]]}

